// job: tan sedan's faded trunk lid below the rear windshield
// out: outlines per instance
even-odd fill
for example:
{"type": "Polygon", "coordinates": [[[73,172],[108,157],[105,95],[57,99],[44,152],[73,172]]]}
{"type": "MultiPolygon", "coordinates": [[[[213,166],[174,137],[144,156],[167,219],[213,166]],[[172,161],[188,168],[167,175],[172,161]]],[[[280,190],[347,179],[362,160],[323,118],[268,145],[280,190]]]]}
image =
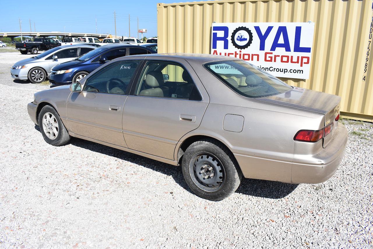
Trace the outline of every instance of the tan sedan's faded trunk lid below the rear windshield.
{"type": "Polygon", "coordinates": [[[336,118],[341,105],[339,96],[299,87],[294,87],[279,95],[258,98],[258,100],[324,114],[326,125],[336,118]]]}

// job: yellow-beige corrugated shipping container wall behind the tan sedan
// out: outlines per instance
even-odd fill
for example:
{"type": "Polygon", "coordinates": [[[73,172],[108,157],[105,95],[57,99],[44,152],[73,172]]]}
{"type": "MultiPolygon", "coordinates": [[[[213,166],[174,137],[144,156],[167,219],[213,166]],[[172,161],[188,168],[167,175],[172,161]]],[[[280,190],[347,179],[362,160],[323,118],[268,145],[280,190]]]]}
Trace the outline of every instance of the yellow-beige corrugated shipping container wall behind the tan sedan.
{"type": "Polygon", "coordinates": [[[209,54],[213,22],[312,21],[315,35],[310,79],[282,80],[292,86],[339,95],[342,97],[341,111],[346,116],[373,121],[372,2],[219,0],[159,3],[158,52],[209,54]],[[366,59],[367,72],[364,73],[366,59]]]}

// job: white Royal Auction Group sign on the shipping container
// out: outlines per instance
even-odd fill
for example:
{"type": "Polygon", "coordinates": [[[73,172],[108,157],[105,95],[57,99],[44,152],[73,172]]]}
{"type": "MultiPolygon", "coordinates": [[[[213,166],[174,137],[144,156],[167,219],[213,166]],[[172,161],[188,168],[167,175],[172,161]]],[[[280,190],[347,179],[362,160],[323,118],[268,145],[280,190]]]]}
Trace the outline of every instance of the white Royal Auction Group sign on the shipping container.
{"type": "Polygon", "coordinates": [[[211,54],[236,57],[276,77],[308,79],[313,22],[213,23],[211,54]]]}

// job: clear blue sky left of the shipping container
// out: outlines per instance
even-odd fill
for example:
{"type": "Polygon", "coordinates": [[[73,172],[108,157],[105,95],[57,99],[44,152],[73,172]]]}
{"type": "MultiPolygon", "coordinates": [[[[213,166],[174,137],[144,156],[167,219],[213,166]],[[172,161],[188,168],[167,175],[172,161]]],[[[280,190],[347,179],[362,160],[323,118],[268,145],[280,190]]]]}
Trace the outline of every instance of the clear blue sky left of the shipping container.
{"type": "MultiPolygon", "coordinates": [[[[144,36],[157,35],[157,3],[173,3],[175,0],[18,0],[0,4],[0,32],[19,31],[18,18],[22,20],[22,31],[97,32],[114,35],[114,10],[116,11],[117,35],[128,36],[128,14],[130,14],[131,36],[137,36],[139,28],[148,29],[144,36]],[[36,3],[36,6],[35,6],[36,3]]],[[[140,34],[141,37],[141,34],[140,34]]]]}

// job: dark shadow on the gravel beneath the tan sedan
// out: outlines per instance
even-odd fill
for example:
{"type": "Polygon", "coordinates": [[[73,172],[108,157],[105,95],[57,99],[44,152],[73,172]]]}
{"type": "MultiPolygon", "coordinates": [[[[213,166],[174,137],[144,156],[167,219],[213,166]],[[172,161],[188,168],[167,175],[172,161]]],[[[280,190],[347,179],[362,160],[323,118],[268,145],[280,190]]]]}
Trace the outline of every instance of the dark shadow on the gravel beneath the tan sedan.
{"type": "MultiPolygon", "coordinates": [[[[40,128],[37,125],[35,125],[35,130],[40,132],[40,128]]],[[[112,147],[107,147],[102,144],[82,140],[79,138],[72,138],[69,143],[83,149],[105,154],[107,156],[117,157],[120,160],[135,163],[142,167],[147,167],[148,169],[158,171],[164,175],[172,176],[176,183],[178,183],[187,191],[191,192],[191,190],[188,188],[188,185],[186,185],[185,183],[184,176],[181,172],[181,167],[158,162],[156,160],[148,159],[143,156],[138,156],[136,154],[118,150],[112,147]]],[[[56,147],[56,149],[58,149],[58,147],[56,147]]],[[[236,192],[256,197],[280,199],[293,192],[294,189],[297,188],[297,186],[297,184],[242,178],[241,185],[236,190],[236,192]]]]}

